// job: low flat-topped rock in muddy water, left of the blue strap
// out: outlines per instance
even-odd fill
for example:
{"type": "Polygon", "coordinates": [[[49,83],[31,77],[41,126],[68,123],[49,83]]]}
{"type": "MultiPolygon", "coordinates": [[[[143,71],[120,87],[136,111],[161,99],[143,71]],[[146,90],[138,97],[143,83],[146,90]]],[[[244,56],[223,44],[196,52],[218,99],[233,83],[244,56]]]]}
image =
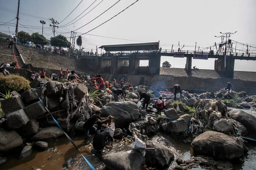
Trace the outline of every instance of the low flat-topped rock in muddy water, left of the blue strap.
{"type": "Polygon", "coordinates": [[[63,135],[63,131],[59,127],[44,127],[39,130],[31,139],[33,140],[41,140],[47,138],[56,138],[58,136],[63,135]]]}

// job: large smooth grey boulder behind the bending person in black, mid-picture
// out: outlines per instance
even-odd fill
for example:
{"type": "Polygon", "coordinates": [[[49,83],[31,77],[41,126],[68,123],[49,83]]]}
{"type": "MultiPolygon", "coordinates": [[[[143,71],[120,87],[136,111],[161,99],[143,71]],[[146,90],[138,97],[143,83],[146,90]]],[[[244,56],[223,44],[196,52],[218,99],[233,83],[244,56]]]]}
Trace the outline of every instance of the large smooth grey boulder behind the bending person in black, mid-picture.
{"type": "Polygon", "coordinates": [[[102,117],[107,117],[109,115],[115,118],[116,128],[126,128],[129,123],[138,119],[140,112],[139,107],[134,102],[110,102],[102,107],[100,110],[102,112],[102,117]],[[137,109],[137,110],[135,110],[137,109]]]}

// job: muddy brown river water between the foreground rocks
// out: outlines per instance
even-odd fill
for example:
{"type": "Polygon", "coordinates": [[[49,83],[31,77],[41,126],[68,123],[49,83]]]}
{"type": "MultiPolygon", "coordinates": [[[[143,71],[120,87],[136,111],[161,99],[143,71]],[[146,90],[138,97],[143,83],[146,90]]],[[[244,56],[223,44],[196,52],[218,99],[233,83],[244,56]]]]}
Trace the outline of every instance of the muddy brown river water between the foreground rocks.
{"type": "MultiPolygon", "coordinates": [[[[252,110],[247,110],[247,112],[256,116],[256,112],[252,110]]],[[[256,122],[255,122],[256,123],[256,122]]],[[[82,145],[83,136],[73,138],[75,144],[79,147],[81,153],[86,156],[88,161],[90,161],[93,166],[98,169],[104,169],[104,164],[102,164],[99,159],[90,154],[92,147],[90,145],[82,145]]],[[[158,134],[151,138],[155,142],[162,143],[169,147],[176,158],[183,158],[187,160],[193,154],[190,144],[185,144],[183,142],[177,142],[171,139],[167,134],[158,134]]],[[[81,158],[78,151],[73,147],[69,140],[63,136],[56,140],[48,142],[49,149],[46,151],[39,152],[33,150],[32,155],[28,156],[26,159],[18,159],[18,154],[8,157],[8,160],[0,165],[0,170],[32,170],[33,167],[38,167],[43,170],[64,170],[64,162],[73,157],[76,158],[74,163],[71,165],[70,170],[90,170],[90,167],[81,158]]],[[[256,142],[245,142],[248,147],[249,152],[245,155],[244,161],[234,161],[233,170],[256,170],[256,142]]],[[[118,152],[121,150],[127,150],[127,148],[133,147],[133,143],[127,145],[120,145],[115,143],[113,146],[114,151],[118,152]]],[[[108,150],[106,150],[108,152],[108,150]]],[[[172,170],[176,165],[174,161],[169,167],[172,170]]],[[[194,168],[194,170],[204,170],[203,168],[194,168]]]]}

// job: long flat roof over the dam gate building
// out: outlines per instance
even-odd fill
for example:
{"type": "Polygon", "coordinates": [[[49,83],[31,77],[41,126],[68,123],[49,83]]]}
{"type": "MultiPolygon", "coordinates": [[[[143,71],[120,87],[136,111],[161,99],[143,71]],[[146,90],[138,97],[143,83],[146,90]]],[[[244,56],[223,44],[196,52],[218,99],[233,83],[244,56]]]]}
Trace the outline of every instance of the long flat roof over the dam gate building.
{"type": "Polygon", "coordinates": [[[118,44],[118,45],[102,45],[107,52],[111,51],[141,51],[141,50],[158,50],[159,42],[137,43],[137,44],[118,44]]]}

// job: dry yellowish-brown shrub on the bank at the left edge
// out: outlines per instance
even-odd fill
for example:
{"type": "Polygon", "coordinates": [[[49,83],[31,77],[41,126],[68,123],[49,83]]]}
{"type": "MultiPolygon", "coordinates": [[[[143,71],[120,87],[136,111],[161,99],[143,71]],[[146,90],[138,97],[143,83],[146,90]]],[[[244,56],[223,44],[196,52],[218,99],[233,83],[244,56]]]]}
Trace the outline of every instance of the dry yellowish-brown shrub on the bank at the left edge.
{"type": "Polygon", "coordinates": [[[30,88],[29,80],[17,75],[0,75],[0,93],[6,94],[6,91],[26,91],[30,88]]]}

